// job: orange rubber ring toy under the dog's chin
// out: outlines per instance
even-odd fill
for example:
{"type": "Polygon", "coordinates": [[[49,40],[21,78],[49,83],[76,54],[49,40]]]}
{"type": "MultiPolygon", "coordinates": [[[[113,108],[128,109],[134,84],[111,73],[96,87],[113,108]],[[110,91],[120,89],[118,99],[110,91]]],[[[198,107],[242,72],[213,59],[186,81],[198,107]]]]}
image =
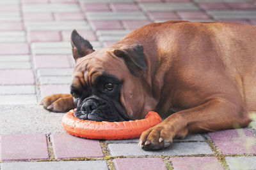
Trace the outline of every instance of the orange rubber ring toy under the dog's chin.
{"type": "Polygon", "coordinates": [[[88,139],[134,139],[150,127],[162,122],[162,118],[154,111],[149,111],[144,119],[124,122],[96,122],[74,117],[70,110],[62,118],[62,125],[69,134],[88,139]]]}

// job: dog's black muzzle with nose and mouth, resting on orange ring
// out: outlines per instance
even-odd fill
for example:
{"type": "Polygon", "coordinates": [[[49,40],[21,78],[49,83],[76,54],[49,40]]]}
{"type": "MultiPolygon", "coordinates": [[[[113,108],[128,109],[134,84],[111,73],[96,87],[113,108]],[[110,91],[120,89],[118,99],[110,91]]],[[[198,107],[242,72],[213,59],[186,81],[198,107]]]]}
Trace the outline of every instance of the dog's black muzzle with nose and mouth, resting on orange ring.
{"type": "Polygon", "coordinates": [[[84,99],[77,105],[74,117],[83,120],[94,120],[97,122],[121,122],[131,120],[124,108],[116,101],[107,101],[106,99],[92,96],[84,99]]]}

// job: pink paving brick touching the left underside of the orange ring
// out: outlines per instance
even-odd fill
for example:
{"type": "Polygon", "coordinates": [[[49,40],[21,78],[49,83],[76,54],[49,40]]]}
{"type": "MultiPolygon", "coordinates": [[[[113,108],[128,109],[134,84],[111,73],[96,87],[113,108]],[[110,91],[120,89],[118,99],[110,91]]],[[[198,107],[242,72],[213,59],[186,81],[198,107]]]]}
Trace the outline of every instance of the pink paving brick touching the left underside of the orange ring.
{"type": "Polygon", "coordinates": [[[77,157],[104,157],[99,141],[77,138],[67,133],[51,135],[56,159],[77,157]]]}

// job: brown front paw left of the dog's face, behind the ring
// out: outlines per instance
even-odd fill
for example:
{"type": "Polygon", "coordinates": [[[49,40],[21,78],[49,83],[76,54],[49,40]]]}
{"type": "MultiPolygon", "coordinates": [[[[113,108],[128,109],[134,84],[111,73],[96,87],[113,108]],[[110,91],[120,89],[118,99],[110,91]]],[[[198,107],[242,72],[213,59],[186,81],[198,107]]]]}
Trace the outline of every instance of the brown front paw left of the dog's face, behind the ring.
{"type": "Polygon", "coordinates": [[[44,97],[40,102],[46,110],[54,112],[65,112],[75,108],[71,94],[52,94],[44,97]]]}

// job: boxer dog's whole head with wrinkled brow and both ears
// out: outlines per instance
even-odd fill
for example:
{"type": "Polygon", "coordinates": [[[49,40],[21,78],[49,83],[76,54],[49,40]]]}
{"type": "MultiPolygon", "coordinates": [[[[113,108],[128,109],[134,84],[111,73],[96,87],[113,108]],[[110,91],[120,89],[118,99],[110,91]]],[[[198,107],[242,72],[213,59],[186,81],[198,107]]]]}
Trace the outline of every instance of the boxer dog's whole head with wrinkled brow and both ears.
{"type": "Polygon", "coordinates": [[[95,51],[76,31],[71,43],[76,60],[70,87],[77,108],[74,116],[109,122],[143,118],[146,87],[141,75],[147,70],[143,46],[116,45],[95,51]]]}

